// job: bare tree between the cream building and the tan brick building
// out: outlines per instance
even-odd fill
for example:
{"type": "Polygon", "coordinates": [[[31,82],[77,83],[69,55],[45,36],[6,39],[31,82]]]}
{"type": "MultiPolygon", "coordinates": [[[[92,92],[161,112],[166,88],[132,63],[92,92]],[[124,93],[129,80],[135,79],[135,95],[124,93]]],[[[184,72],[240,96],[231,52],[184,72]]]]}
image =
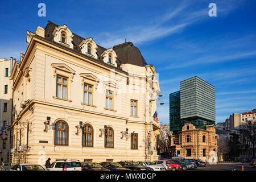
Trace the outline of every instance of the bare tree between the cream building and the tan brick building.
{"type": "Polygon", "coordinates": [[[158,135],[158,154],[165,158],[170,157],[171,147],[171,134],[170,125],[160,124],[160,132],[158,135]]]}

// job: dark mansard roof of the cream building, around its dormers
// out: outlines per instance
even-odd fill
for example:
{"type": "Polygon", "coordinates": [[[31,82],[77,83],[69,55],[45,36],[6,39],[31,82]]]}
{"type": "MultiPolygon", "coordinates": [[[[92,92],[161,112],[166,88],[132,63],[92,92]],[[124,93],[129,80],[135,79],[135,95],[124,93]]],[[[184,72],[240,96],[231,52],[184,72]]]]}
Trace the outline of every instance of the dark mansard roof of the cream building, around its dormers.
{"type": "MultiPolygon", "coordinates": [[[[58,25],[48,20],[46,28],[44,29],[44,37],[51,42],[53,42],[54,37],[52,35],[52,32],[55,30],[55,27],[58,27],[58,25]]],[[[81,48],[79,47],[79,44],[85,38],[82,38],[81,36],[76,35],[73,32],[72,34],[73,34],[73,37],[72,37],[73,51],[81,53],[81,48]]],[[[115,51],[115,53],[117,53],[116,63],[118,68],[120,68],[121,64],[133,64],[140,67],[144,67],[147,65],[146,61],[141,55],[141,51],[139,51],[139,49],[135,47],[131,42],[126,42],[126,43],[122,43],[117,46],[114,46],[113,50],[115,51]]],[[[106,48],[97,44],[96,53],[98,56],[98,60],[103,61],[101,54],[104,51],[106,51],[106,48]]]]}

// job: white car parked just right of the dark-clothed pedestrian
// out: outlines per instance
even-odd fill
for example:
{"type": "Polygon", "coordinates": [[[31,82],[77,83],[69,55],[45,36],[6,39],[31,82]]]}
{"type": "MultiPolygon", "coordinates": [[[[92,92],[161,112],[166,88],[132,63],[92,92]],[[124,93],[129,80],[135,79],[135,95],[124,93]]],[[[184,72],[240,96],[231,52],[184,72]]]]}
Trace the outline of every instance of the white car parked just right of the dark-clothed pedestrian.
{"type": "Polygon", "coordinates": [[[79,160],[56,160],[48,168],[49,171],[82,171],[79,160]]]}

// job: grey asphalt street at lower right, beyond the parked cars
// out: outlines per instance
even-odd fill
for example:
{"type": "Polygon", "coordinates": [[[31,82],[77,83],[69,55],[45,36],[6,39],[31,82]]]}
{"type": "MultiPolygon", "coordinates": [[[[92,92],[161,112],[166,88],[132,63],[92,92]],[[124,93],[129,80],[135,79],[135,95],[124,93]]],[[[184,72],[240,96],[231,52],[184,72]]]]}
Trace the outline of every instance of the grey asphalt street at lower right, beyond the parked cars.
{"type": "MultiPolygon", "coordinates": [[[[233,169],[242,171],[242,163],[207,164],[206,167],[197,167],[194,171],[232,171],[233,169]]],[[[243,171],[256,171],[256,168],[249,164],[243,164],[243,171]]]]}

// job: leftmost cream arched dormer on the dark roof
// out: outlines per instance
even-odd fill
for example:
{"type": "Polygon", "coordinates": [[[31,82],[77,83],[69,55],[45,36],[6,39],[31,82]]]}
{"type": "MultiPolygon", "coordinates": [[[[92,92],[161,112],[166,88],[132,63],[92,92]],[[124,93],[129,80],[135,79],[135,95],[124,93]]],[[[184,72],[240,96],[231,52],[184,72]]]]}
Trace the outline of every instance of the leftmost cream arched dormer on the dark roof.
{"type": "Polygon", "coordinates": [[[73,44],[72,44],[73,34],[71,30],[67,27],[67,25],[63,24],[58,27],[55,27],[52,32],[52,35],[54,36],[53,40],[55,42],[60,43],[64,46],[73,48],[73,44]],[[65,36],[63,34],[65,34],[65,36]]]}

